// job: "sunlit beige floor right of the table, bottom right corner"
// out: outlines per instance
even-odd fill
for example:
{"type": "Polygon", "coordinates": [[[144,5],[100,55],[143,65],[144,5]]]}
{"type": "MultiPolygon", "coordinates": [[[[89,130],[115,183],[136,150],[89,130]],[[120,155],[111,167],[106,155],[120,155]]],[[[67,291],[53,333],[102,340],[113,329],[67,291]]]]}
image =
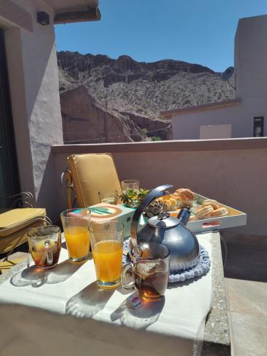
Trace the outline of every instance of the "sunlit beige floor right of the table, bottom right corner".
{"type": "Polygon", "coordinates": [[[233,356],[267,355],[267,283],[226,278],[233,356]]]}

